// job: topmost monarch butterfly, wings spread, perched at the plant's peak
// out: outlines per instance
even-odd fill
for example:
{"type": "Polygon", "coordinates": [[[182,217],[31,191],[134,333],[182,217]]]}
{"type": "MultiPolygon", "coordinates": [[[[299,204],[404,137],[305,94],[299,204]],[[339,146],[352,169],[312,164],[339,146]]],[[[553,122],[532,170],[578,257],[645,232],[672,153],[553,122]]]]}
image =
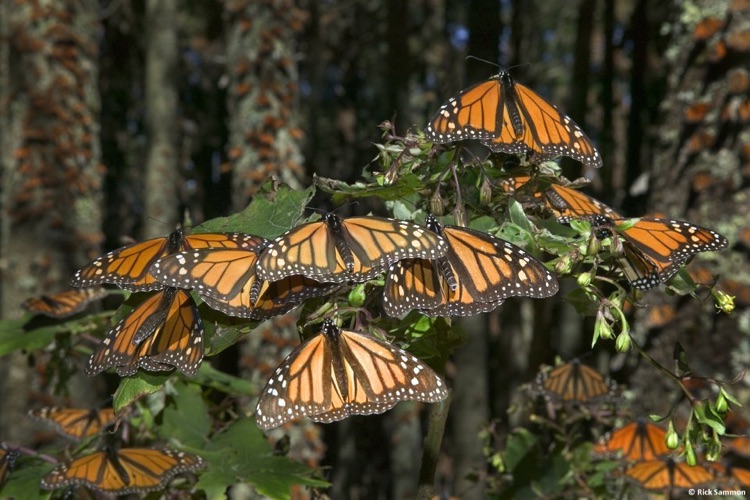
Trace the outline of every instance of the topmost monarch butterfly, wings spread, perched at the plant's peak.
{"type": "Polygon", "coordinates": [[[479,139],[495,152],[530,153],[540,161],[569,156],[602,166],[599,151],[569,116],[506,71],[450,98],[425,132],[438,144],[479,139]]]}

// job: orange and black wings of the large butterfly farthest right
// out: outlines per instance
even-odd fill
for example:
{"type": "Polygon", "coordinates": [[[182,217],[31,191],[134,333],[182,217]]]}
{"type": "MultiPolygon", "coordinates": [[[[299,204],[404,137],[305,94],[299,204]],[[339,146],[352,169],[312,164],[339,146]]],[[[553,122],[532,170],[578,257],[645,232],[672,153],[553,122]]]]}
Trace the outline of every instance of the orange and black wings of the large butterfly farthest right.
{"type": "Polygon", "coordinates": [[[622,238],[623,247],[623,254],[616,257],[618,267],[634,287],[643,290],[668,281],[693,255],[729,244],[719,233],[685,221],[641,217],[614,222],[610,230],[622,238]]]}

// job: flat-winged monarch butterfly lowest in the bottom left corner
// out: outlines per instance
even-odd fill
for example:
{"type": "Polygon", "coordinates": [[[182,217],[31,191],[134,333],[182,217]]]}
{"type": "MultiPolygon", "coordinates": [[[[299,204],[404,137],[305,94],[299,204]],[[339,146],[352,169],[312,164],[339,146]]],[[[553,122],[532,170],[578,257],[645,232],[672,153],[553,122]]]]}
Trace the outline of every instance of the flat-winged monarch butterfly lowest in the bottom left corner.
{"type": "Polygon", "coordinates": [[[42,488],[85,486],[124,495],[164,489],[181,472],[202,468],[197,455],[155,448],[105,449],[60,465],[42,478],[42,488]]]}

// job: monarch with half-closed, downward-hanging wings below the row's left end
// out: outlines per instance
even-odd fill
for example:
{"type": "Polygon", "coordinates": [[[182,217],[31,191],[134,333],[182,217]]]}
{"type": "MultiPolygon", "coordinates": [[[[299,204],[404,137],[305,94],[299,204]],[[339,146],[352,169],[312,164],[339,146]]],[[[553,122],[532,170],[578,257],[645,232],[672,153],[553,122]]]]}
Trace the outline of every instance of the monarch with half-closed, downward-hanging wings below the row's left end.
{"type": "Polygon", "coordinates": [[[121,376],[138,367],[166,371],[176,367],[195,375],[203,360],[203,323],[185,290],[167,288],[146,298],[110,330],[86,366],[92,376],[110,366],[121,376]]]}

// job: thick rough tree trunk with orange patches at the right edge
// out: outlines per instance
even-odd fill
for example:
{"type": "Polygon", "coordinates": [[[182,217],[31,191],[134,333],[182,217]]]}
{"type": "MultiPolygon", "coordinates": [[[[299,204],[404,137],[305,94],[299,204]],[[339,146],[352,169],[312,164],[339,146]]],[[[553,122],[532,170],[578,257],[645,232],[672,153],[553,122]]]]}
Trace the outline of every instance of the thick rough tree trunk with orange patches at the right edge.
{"type": "MultiPolygon", "coordinates": [[[[718,278],[719,288],[737,295],[739,307],[748,307],[750,119],[739,109],[742,103],[747,106],[750,90],[744,41],[750,30],[750,9],[741,4],[676,2],[672,22],[662,28],[669,30],[670,37],[660,60],[665,97],[649,138],[654,151],[649,162],[649,210],[726,236],[730,249],[699,254],[689,269],[698,283],[711,286],[718,278]]],[[[638,311],[634,331],[641,339],[651,339],[652,355],[667,366],[672,366],[672,349],[679,341],[696,375],[730,380],[747,368],[747,349],[742,348],[747,332],[741,315],[717,315],[706,289],[698,295],[704,299],[701,303],[663,292],[647,294],[643,302],[651,308],[638,311]]],[[[650,413],[663,413],[668,409],[666,398],[664,392],[653,390],[652,374],[639,370],[641,384],[654,398],[646,404],[652,405],[650,413]]],[[[740,396],[747,401],[747,394],[740,396]]]]}

